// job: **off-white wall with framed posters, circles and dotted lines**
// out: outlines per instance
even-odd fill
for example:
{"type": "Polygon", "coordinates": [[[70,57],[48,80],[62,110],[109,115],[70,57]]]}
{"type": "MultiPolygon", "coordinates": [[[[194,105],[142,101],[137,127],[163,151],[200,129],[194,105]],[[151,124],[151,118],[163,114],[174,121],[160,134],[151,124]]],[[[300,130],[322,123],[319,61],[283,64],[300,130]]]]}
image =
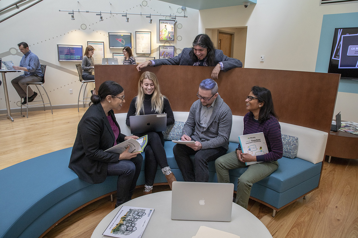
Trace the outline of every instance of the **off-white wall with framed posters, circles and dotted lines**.
{"type": "MultiPolygon", "coordinates": [[[[1,7],[7,6],[14,1],[2,0],[1,7]]],[[[125,17],[118,15],[102,14],[103,21],[99,21],[99,16],[95,13],[78,13],[75,11],[75,20],[67,12],[59,10],[89,10],[89,11],[112,11],[112,12],[131,12],[143,14],[162,14],[162,15],[181,15],[184,13],[181,6],[164,3],[158,0],[116,0],[116,1],[96,1],[86,0],[79,3],[74,0],[46,0],[21,12],[18,15],[2,22],[0,58],[3,61],[12,60],[18,65],[21,56],[15,55],[18,49],[17,44],[25,41],[29,44],[29,49],[36,54],[40,61],[48,62],[45,74],[45,88],[49,93],[52,105],[76,105],[79,88],[81,83],[78,80],[78,73],[75,64],[78,62],[59,62],[57,56],[57,44],[83,45],[83,52],[87,46],[87,41],[103,41],[105,44],[105,57],[112,57],[112,53],[121,53],[121,49],[108,48],[108,32],[131,32],[132,51],[135,54],[135,31],[151,31],[152,55],[159,58],[159,45],[174,45],[176,54],[180,53],[184,47],[190,47],[193,39],[198,33],[198,10],[186,9],[187,18],[178,17],[175,29],[175,41],[159,41],[159,19],[169,19],[169,17],[152,16],[153,22],[149,24],[149,19],[140,15],[128,15],[129,22],[125,22],[125,17]],[[111,2],[111,4],[109,3],[111,2]],[[141,6],[142,5],[142,6],[141,6]],[[146,6],[143,6],[146,5],[146,6]],[[193,24],[194,23],[194,24],[193,24]],[[86,29],[83,30],[84,24],[86,29]],[[4,32],[7,32],[6,36],[4,32]],[[11,48],[12,49],[10,52],[11,48]],[[66,72],[66,70],[71,70],[66,72]],[[71,74],[72,73],[72,74],[71,74]],[[73,94],[69,94],[69,89],[73,89],[73,94]]],[[[15,7],[13,7],[15,9],[15,7]]],[[[15,9],[16,10],[16,9],[15,9]]],[[[20,7],[21,10],[21,7],[20,7]]],[[[14,11],[12,11],[14,12],[14,11]]],[[[7,15],[11,11],[6,12],[7,15]]],[[[0,15],[0,19],[5,16],[0,15]]],[[[176,55],[175,54],[175,55],[176,55]]],[[[148,56],[148,55],[147,55],[148,56]]],[[[115,73],[115,72],[114,72],[115,73]]],[[[7,73],[6,82],[10,98],[10,108],[19,108],[20,97],[11,85],[11,79],[20,73],[7,73]]],[[[123,77],[123,76],[120,76],[123,77]]],[[[1,86],[2,88],[3,86],[1,86]]],[[[89,85],[88,91],[92,88],[89,85]]],[[[3,89],[0,90],[0,110],[6,109],[3,89]]],[[[5,113],[5,111],[3,111],[5,113]]]]}

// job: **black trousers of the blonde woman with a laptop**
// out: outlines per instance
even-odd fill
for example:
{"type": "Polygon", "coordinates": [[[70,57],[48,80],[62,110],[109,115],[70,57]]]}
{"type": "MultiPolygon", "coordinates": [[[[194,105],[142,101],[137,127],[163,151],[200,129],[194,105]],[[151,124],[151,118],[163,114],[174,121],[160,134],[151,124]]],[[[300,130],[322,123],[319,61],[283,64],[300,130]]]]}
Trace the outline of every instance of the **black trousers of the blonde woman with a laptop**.
{"type": "Polygon", "coordinates": [[[164,150],[164,136],[161,132],[147,132],[136,136],[148,135],[148,142],[144,149],[145,153],[145,184],[153,186],[154,178],[159,165],[160,168],[169,166],[164,150]]]}

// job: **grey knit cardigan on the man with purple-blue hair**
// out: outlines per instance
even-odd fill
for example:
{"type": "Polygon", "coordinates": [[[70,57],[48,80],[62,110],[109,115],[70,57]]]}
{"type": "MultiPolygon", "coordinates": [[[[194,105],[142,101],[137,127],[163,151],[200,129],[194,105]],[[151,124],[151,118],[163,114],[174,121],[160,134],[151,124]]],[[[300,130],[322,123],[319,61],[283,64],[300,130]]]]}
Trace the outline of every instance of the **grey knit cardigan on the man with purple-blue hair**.
{"type": "Polygon", "coordinates": [[[213,114],[206,128],[200,125],[202,104],[197,100],[190,107],[188,120],[185,122],[183,133],[202,144],[202,150],[209,148],[229,148],[229,137],[232,126],[232,112],[220,95],[216,98],[213,114]]]}

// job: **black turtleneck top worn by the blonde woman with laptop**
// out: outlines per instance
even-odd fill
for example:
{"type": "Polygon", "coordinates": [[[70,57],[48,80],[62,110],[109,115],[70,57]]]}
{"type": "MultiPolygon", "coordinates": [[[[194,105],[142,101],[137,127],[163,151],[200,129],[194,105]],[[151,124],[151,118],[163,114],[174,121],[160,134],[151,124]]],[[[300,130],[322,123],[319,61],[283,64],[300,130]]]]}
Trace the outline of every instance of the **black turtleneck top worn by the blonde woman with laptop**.
{"type": "MultiPolygon", "coordinates": [[[[153,96],[153,93],[150,95],[148,95],[148,94],[144,95],[144,101],[143,101],[144,112],[141,111],[140,115],[158,114],[158,112],[155,112],[155,110],[152,109],[152,104],[151,104],[152,96],[153,96]]],[[[136,113],[136,107],[135,107],[136,101],[137,101],[137,97],[134,97],[133,100],[131,101],[130,106],[129,106],[129,110],[127,113],[127,119],[126,119],[127,126],[130,126],[129,117],[134,116],[136,113]]],[[[169,100],[167,98],[164,98],[163,102],[164,102],[163,111],[160,113],[166,113],[166,125],[168,126],[168,125],[171,125],[174,123],[174,114],[173,114],[173,111],[171,110],[169,100]]]]}

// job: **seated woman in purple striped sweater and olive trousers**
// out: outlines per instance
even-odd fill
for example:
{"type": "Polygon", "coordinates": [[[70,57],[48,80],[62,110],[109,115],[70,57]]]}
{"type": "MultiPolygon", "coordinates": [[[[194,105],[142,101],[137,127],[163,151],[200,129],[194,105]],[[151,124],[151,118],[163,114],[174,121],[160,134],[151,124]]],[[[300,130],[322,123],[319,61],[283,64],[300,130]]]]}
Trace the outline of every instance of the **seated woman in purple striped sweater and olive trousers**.
{"type": "Polygon", "coordinates": [[[246,109],[249,111],[244,117],[243,135],[263,132],[269,153],[252,156],[242,153],[239,145],[236,151],[216,159],[215,168],[219,183],[229,183],[229,169],[248,167],[238,178],[235,203],[247,209],[248,199],[253,183],[269,176],[279,164],[282,157],[283,146],[281,127],[272,103],[270,90],[264,87],[253,86],[246,97],[246,109]],[[245,162],[257,161],[246,166],[245,162]]]}

